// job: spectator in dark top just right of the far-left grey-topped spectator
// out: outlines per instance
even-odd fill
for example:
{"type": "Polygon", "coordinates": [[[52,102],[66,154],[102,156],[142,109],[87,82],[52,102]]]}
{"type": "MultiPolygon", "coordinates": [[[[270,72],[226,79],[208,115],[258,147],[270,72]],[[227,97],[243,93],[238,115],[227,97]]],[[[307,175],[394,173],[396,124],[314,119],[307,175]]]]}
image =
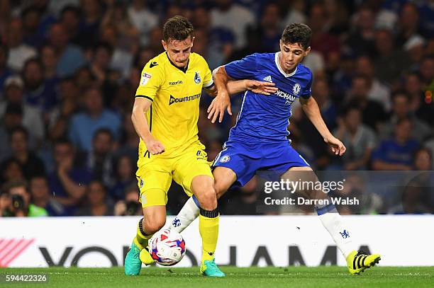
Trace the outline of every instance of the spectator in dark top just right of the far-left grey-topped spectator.
{"type": "Polygon", "coordinates": [[[24,98],[40,110],[49,112],[57,103],[56,81],[47,81],[39,59],[28,59],[23,68],[24,98]]]}

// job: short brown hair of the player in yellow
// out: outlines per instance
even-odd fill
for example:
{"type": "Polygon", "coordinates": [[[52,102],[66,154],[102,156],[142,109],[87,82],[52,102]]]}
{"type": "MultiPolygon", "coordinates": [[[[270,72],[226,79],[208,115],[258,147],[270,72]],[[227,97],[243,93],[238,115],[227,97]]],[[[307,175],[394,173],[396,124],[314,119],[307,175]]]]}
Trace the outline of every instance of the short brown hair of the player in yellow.
{"type": "Polygon", "coordinates": [[[163,40],[185,40],[193,37],[193,25],[184,16],[169,18],[163,26],[163,40]]]}

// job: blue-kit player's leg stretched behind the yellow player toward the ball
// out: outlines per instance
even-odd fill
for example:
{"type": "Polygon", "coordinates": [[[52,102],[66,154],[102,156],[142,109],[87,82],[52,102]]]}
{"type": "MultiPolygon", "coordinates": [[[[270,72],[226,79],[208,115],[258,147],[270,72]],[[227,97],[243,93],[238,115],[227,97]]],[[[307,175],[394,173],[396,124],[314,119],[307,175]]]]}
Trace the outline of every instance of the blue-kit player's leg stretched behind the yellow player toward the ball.
{"type": "MultiPolygon", "coordinates": [[[[223,166],[214,168],[213,176],[214,190],[216,190],[217,199],[226,193],[230,186],[237,180],[235,172],[232,169],[223,166]]],[[[178,233],[184,231],[184,229],[186,229],[194,219],[199,217],[199,207],[199,200],[197,200],[196,196],[191,196],[182,207],[181,211],[179,211],[177,217],[174,218],[169,229],[177,231],[178,233]]]]}

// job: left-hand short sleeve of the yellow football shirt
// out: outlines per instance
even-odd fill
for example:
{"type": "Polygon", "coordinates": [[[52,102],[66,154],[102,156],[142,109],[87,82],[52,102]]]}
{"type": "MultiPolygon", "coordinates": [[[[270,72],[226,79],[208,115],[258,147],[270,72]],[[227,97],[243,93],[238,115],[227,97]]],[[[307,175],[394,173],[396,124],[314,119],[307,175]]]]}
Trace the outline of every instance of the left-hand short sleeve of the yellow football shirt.
{"type": "Polygon", "coordinates": [[[140,83],[135,97],[144,97],[153,101],[163,83],[163,73],[162,65],[155,65],[155,61],[151,61],[145,65],[140,74],[140,83]]]}

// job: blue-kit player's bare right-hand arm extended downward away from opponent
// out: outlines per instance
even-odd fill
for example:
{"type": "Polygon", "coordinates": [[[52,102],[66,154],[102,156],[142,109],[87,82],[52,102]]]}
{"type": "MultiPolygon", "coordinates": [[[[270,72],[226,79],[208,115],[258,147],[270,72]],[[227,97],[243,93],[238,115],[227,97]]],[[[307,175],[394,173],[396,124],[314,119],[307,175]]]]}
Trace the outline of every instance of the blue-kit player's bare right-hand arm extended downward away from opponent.
{"type": "Polygon", "coordinates": [[[321,134],[324,142],[331,146],[331,149],[333,153],[335,153],[335,155],[342,156],[346,150],[345,145],[340,142],[339,139],[335,138],[333,134],[331,134],[330,130],[327,128],[327,125],[325,125],[316,100],[312,96],[308,98],[300,97],[299,99],[304,113],[306,113],[313,126],[315,126],[315,128],[321,134]]]}

